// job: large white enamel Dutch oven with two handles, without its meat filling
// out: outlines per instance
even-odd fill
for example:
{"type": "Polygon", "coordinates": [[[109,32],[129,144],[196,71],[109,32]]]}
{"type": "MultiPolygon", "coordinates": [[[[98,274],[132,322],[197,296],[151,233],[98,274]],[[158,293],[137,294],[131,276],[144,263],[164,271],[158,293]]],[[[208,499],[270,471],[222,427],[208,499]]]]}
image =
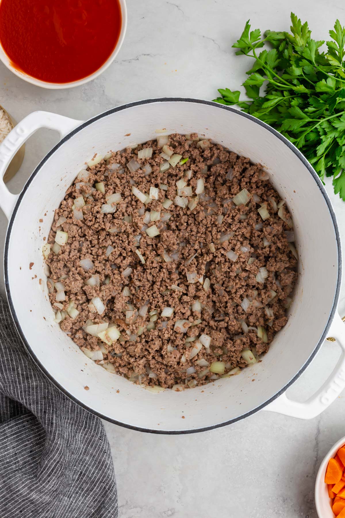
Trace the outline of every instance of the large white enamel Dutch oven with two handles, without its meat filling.
{"type": "Polygon", "coordinates": [[[37,166],[20,195],[10,194],[0,180],[0,206],[9,220],[5,282],[13,319],[29,354],[56,386],[104,419],[155,433],[216,428],[263,408],[310,419],[331,404],[345,386],[345,328],[337,313],[339,233],[320,179],[288,140],[233,108],[195,99],[145,100],[87,122],[38,111],[22,120],[0,147],[0,179],[14,153],[41,127],[57,130],[61,141],[37,166]],[[85,161],[95,152],[156,138],[157,128],[166,128],[167,134],[205,134],[261,163],[292,212],[300,257],[289,322],[263,361],[238,376],[182,393],[152,394],[87,359],[53,322],[47,290],[42,292],[39,284],[42,279],[45,285],[46,279],[43,236],[48,236],[54,209],[85,161]],[[32,269],[29,263],[34,263],[32,269]],[[305,370],[328,332],[342,347],[332,375],[308,401],[288,399],[284,392],[305,370]]]}

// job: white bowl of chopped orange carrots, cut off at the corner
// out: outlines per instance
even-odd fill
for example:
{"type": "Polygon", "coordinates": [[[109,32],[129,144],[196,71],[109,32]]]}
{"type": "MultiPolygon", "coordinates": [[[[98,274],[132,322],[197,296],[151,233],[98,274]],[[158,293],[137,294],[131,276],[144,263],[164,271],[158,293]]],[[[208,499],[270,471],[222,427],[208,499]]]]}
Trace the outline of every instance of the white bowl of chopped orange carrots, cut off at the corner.
{"type": "Polygon", "coordinates": [[[345,518],[345,437],[329,450],[315,484],[319,518],[345,518]]]}

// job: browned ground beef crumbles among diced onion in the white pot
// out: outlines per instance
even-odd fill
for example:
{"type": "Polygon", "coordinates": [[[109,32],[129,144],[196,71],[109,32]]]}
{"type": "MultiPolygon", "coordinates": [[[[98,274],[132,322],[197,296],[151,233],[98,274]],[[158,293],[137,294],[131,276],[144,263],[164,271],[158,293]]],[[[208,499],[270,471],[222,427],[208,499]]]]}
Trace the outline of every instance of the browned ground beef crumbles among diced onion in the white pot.
{"type": "Polygon", "coordinates": [[[50,283],[50,300],[62,329],[89,356],[98,351],[96,362],[108,370],[136,383],[187,387],[217,379],[214,368],[209,370],[214,362],[222,362],[217,364],[220,375],[223,368],[227,375],[247,365],[243,351],[252,357],[267,351],[287,322],[297,261],[290,214],[285,205],[280,208],[280,197],[260,165],[218,144],[200,142],[196,134],[188,139],[170,135],[164,149],[182,155],[181,162],[164,172],[166,157],[152,140],[109,153],[73,182],[55,211],[48,238],[53,247],[57,230],[68,233],[67,243],[61,250],[55,244],[47,258],[51,279],[64,284],[66,299],[56,303],[50,283]],[[152,148],[152,157],[139,159],[143,148],[152,148]],[[132,159],[140,165],[135,172],[127,166],[132,159]],[[175,199],[179,179],[185,179],[192,196],[184,196],[182,188],[175,199]],[[196,196],[199,179],[204,180],[204,192],[196,196]],[[143,204],[132,186],[142,193],[158,188],[158,199],[143,204]],[[250,200],[237,206],[233,199],[243,190],[250,200]],[[107,204],[106,196],[113,193],[121,193],[121,200],[107,204]],[[74,206],[80,196],[82,208],[74,206]],[[164,208],[164,198],[175,202],[164,208]],[[180,207],[175,203],[181,199],[183,205],[192,199],[197,205],[192,210],[180,207]],[[106,205],[114,212],[103,213],[106,205]],[[269,213],[265,221],[261,207],[269,213]],[[159,219],[149,221],[153,211],[160,213],[159,219]],[[149,237],[146,229],[153,225],[159,235],[149,237]],[[92,261],[89,270],[80,265],[85,258],[92,261]],[[261,282],[259,268],[267,270],[266,278],[259,275],[261,282]],[[86,284],[91,276],[98,276],[93,278],[96,285],[86,284]],[[94,297],[106,306],[101,314],[91,303],[94,297]],[[138,315],[142,306],[147,306],[145,316],[138,315]],[[170,318],[161,316],[164,307],[174,309],[170,318]],[[121,332],[111,345],[85,330],[102,322],[121,332]],[[202,346],[193,356],[200,335],[211,337],[211,346],[202,346]]]}

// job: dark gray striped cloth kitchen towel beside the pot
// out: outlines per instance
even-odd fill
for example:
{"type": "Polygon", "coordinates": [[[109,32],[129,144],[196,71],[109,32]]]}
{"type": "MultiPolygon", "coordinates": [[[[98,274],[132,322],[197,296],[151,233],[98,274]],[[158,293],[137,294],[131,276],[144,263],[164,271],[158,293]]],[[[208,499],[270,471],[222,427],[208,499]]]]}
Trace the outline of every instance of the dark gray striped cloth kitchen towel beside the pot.
{"type": "Polygon", "coordinates": [[[99,418],[26,353],[0,296],[0,518],[113,518],[117,493],[99,418]]]}

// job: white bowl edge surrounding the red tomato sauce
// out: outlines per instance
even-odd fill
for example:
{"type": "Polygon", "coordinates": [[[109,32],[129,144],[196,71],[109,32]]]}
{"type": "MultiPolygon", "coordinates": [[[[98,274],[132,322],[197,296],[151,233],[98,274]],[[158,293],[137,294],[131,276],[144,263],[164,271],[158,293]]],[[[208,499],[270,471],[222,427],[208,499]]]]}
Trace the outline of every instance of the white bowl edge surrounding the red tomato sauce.
{"type": "Polygon", "coordinates": [[[28,74],[25,74],[21,70],[17,70],[15,68],[8,55],[4,51],[1,43],[0,43],[0,60],[4,63],[4,65],[13,72],[13,74],[16,74],[16,76],[20,77],[21,79],[24,79],[24,81],[27,81],[28,83],[35,84],[37,87],[42,88],[50,88],[54,90],[61,90],[63,88],[73,88],[73,87],[80,87],[81,84],[85,84],[88,81],[91,81],[92,79],[95,79],[95,77],[99,76],[106,70],[106,68],[109,67],[109,65],[114,61],[118,51],[120,50],[123,40],[125,38],[125,33],[127,29],[127,8],[126,8],[126,1],[125,0],[118,0],[119,5],[121,7],[121,14],[122,14],[122,24],[121,24],[121,32],[118,37],[117,44],[113,50],[113,52],[108,57],[107,61],[103,63],[103,65],[98,68],[93,74],[90,74],[89,76],[84,77],[83,79],[78,79],[77,81],[71,81],[70,83],[50,83],[47,81],[41,81],[40,79],[36,79],[35,77],[29,76],[28,74]]]}

